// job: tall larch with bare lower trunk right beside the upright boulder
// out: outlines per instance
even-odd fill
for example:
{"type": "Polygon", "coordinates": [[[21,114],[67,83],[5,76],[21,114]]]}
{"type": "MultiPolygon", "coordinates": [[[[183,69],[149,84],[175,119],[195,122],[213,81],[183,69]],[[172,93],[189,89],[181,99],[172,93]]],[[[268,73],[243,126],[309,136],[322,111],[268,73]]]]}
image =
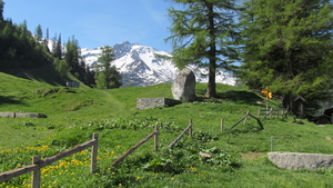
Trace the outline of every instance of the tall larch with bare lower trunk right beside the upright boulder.
{"type": "Polygon", "coordinates": [[[233,0],[173,0],[184,10],[169,9],[173,60],[178,68],[196,65],[209,70],[205,97],[216,96],[218,68],[231,69],[235,57],[231,43],[236,37],[233,0]]]}

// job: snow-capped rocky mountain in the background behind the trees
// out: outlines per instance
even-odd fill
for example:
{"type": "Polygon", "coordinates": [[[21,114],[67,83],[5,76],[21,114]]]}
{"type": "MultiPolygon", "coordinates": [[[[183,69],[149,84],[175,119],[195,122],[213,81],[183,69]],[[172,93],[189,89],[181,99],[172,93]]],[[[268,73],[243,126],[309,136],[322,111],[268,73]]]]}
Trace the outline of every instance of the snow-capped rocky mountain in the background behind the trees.
{"type": "MultiPolygon", "coordinates": [[[[155,55],[172,57],[168,51],[159,51],[151,47],[130,43],[128,41],[114,44],[115,66],[122,75],[122,87],[128,86],[151,86],[162,82],[172,82],[179,72],[171,60],[162,59],[155,55]]],[[[97,65],[100,48],[81,49],[81,55],[90,67],[97,65]]],[[[189,67],[193,70],[198,82],[208,82],[208,70],[203,68],[189,67]]],[[[216,82],[234,85],[235,78],[226,72],[216,72],[216,82]]]]}

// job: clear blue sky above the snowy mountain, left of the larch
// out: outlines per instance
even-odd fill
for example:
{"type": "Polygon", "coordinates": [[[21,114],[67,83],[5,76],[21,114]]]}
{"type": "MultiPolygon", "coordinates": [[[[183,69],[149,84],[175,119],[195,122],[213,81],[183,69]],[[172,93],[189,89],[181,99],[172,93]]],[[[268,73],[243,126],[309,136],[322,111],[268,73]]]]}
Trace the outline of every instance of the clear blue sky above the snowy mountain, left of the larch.
{"type": "Polygon", "coordinates": [[[47,28],[53,38],[61,33],[62,42],[72,36],[81,48],[113,46],[123,41],[171,51],[171,21],[168,10],[171,0],[3,0],[4,19],[14,23],[27,20],[34,33],[38,24],[43,37],[47,28]]]}

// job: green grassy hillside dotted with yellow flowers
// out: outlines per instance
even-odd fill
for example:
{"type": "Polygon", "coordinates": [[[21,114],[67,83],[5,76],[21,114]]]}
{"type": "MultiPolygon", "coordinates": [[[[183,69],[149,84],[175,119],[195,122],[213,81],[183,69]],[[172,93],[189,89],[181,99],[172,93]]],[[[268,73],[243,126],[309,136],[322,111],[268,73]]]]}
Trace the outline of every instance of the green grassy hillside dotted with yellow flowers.
{"type": "MultiPolygon", "coordinates": [[[[171,85],[97,90],[64,88],[0,73],[0,111],[40,112],[46,119],[0,118],[0,172],[30,165],[31,157],[50,157],[100,133],[99,171],[89,174],[89,149],[42,170],[42,187],[331,187],[331,169],[285,170],[266,152],[332,154],[331,125],[316,126],[293,117],[249,118],[228,130],[246,111],[256,115],[262,97],[243,88],[218,85],[219,98],[175,107],[137,109],[137,98],[172,98],[171,85]],[[221,132],[221,119],[225,130],[221,132]],[[193,120],[194,135],[167,149],[193,120]],[[160,150],[144,144],[115,168],[112,161],[160,126],[160,150]],[[199,152],[213,155],[202,160],[199,152]],[[71,162],[68,162],[71,161],[71,162]],[[64,165],[67,164],[67,165],[64,165]],[[320,179],[320,181],[319,181],[320,179]]],[[[196,85],[202,97],[204,83],[196,85]]],[[[270,107],[279,108],[279,101],[270,107]]],[[[29,187],[30,175],[0,182],[29,187]]]]}

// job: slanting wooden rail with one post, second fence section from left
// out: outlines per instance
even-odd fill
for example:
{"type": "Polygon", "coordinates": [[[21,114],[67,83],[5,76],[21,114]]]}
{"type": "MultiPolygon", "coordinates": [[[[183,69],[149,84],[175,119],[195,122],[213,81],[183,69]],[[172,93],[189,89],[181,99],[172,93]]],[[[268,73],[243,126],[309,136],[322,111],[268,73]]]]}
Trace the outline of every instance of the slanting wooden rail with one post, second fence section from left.
{"type": "Polygon", "coordinates": [[[117,166],[125,157],[128,157],[130,154],[132,154],[135,149],[138,149],[141,145],[143,145],[145,141],[148,141],[152,137],[154,137],[154,150],[158,150],[159,149],[159,127],[157,126],[154,131],[152,131],[150,135],[148,135],[141,141],[139,141],[138,144],[135,144],[133,147],[131,147],[128,151],[125,151],[122,156],[120,156],[117,160],[114,160],[111,164],[111,166],[112,167],[117,166]]]}

